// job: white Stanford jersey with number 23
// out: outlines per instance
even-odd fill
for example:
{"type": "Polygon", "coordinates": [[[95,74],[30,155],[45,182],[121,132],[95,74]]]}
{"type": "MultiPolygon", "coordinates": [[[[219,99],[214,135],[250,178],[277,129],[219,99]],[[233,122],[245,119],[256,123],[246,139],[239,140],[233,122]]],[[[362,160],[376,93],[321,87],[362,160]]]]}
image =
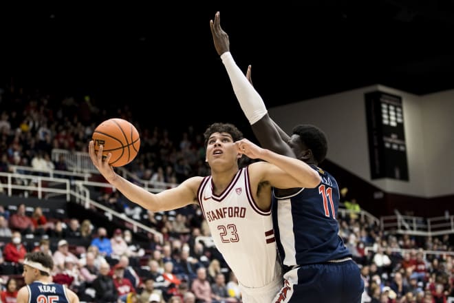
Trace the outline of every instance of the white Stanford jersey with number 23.
{"type": "Polygon", "coordinates": [[[250,191],[248,168],[239,169],[226,190],[213,194],[211,176],[197,193],[217,249],[244,286],[257,288],[281,274],[271,209],[261,211],[250,191]]]}

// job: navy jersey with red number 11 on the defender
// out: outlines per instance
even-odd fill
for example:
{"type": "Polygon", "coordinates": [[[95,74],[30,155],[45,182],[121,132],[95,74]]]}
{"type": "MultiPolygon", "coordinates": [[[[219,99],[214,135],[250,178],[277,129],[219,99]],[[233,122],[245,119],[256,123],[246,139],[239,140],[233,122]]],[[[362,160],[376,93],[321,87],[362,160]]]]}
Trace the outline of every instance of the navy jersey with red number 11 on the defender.
{"type": "Polygon", "coordinates": [[[274,192],[272,216],[277,247],[284,266],[323,263],[351,257],[338,236],[339,189],[326,171],[311,165],[321,176],[313,189],[287,197],[274,192]]]}

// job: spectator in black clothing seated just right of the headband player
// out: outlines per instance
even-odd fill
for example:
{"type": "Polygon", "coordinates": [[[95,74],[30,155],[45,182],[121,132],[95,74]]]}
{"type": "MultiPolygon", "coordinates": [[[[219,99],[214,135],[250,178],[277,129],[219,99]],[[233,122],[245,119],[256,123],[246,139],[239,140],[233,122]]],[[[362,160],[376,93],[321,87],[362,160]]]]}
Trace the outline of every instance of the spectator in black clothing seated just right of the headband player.
{"type": "Polygon", "coordinates": [[[92,286],[95,290],[94,302],[116,303],[118,292],[114,284],[114,279],[109,275],[110,265],[107,262],[100,264],[99,275],[93,281],[92,286]]]}

